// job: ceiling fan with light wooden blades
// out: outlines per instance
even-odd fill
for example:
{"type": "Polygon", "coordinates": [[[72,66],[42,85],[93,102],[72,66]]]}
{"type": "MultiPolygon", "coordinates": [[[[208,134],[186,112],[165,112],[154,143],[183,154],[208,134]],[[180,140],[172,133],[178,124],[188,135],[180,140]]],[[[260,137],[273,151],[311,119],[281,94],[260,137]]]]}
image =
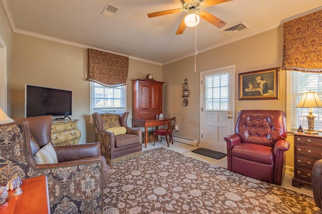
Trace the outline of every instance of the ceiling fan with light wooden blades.
{"type": "Polygon", "coordinates": [[[207,7],[210,7],[213,5],[218,5],[221,3],[229,2],[229,1],[232,1],[232,0],[204,0],[204,1],[184,0],[184,4],[182,6],[182,9],[179,8],[179,9],[172,9],[172,10],[167,10],[167,11],[159,11],[159,12],[147,14],[147,16],[149,18],[152,18],[152,17],[159,17],[159,16],[164,16],[164,15],[169,15],[169,14],[176,14],[176,13],[180,13],[183,11],[188,12],[189,14],[183,18],[176,34],[183,34],[183,32],[185,31],[186,26],[187,26],[185,23],[185,19],[190,14],[194,15],[194,17],[195,17],[194,18],[195,25],[192,25],[189,27],[196,26],[199,22],[199,20],[198,20],[199,17],[201,17],[202,19],[206,20],[207,22],[211,23],[212,25],[216,26],[217,28],[222,28],[223,26],[226,25],[226,23],[224,21],[222,21],[221,19],[219,19],[219,18],[213,16],[212,14],[210,14],[206,11],[203,11],[201,9],[207,8],[207,7]]]}

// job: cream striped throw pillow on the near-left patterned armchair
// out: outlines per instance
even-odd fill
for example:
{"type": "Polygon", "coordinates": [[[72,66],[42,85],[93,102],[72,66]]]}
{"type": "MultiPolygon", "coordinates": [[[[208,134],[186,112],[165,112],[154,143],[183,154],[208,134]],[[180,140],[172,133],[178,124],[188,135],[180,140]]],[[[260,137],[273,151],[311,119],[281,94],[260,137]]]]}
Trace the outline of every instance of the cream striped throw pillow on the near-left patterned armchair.
{"type": "Polygon", "coordinates": [[[55,149],[50,142],[39,149],[39,151],[35,153],[34,157],[38,164],[58,163],[55,149]]]}

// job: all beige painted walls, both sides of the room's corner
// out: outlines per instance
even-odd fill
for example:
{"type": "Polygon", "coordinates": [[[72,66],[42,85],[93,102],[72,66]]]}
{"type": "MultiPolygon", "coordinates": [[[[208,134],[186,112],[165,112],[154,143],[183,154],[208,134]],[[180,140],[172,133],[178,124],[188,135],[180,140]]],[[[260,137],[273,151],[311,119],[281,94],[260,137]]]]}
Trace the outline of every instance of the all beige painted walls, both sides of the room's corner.
{"type": "MultiPolygon", "coordinates": [[[[9,116],[24,117],[25,84],[60,88],[73,91],[73,116],[79,119],[82,131],[81,143],[94,141],[93,126],[89,125],[89,82],[86,81],[87,50],[59,44],[11,31],[7,16],[0,4],[0,37],[7,45],[8,106],[9,116]],[[14,55],[13,55],[14,54],[14,55]]],[[[282,27],[251,38],[228,44],[197,55],[197,72],[194,72],[194,57],[189,57],[165,66],[130,59],[127,110],[132,117],[132,82],[134,78],[153,78],[164,84],[164,114],[178,118],[179,132],[176,135],[199,139],[200,136],[200,72],[228,65],[235,65],[235,107],[244,109],[280,109],[286,111],[286,74],[280,72],[279,100],[238,100],[238,73],[280,67],[282,64],[282,27]],[[182,106],[181,90],[188,79],[189,106],[182,106]]],[[[192,50],[193,52],[193,50],[192,50]]],[[[286,112],[287,113],[287,112],[286,112]]],[[[290,138],[291,145],[293,138],[290,138]]],[[[288,166],[293,166],[293,149],[288,151],[288,166]]]]}

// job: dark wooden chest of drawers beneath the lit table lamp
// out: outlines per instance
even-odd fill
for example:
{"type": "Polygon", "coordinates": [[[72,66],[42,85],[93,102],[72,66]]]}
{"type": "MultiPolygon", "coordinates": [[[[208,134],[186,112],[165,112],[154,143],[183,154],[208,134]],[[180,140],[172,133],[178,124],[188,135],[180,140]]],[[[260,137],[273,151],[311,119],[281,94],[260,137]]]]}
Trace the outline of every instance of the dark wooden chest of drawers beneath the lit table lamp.
{"type": "Polygon", "coordinates": [[[294,133],[294,177],[292,185],[311,185],[314,163],[322,159],[322,136],[294,133]]]}

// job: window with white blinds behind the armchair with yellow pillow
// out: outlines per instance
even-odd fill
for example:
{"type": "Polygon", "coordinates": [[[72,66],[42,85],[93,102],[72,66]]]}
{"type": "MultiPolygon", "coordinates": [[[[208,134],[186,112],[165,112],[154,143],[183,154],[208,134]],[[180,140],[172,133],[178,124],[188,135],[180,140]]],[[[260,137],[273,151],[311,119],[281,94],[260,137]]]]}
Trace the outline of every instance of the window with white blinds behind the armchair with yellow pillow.
{"type": "Polygon", "coordinates": [[[126,86],[105,87],[91,82],[91,110],[94,112],[125,111],[126,86]]]}

